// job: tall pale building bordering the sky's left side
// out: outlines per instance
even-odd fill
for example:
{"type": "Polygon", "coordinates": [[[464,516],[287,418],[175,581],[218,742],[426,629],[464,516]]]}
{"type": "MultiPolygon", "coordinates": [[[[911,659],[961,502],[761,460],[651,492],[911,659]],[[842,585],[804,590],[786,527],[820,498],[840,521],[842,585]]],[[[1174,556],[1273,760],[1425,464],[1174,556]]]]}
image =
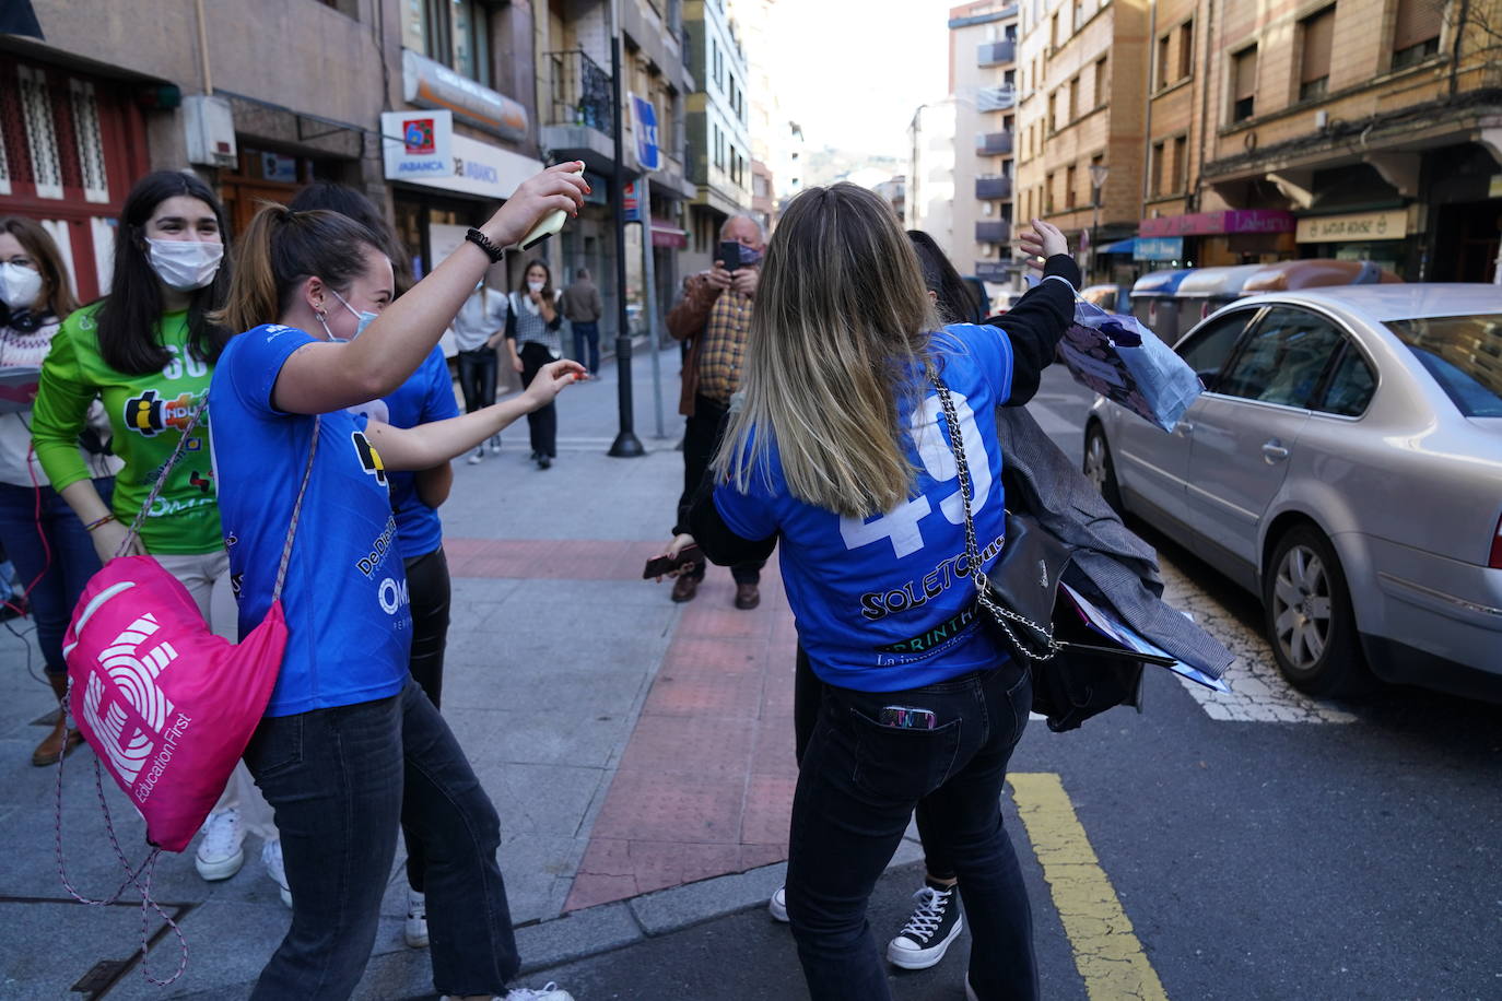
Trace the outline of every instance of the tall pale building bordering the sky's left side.
{"type": "Polygon", "coordinates": [[[697,86],[688,98],[689,177],[698,186],[683,266],[698,270],[713,263],[725,219],[751,209],[751,111],[746,57],[724,0],[685,3],[683,29],[697,86]]]}

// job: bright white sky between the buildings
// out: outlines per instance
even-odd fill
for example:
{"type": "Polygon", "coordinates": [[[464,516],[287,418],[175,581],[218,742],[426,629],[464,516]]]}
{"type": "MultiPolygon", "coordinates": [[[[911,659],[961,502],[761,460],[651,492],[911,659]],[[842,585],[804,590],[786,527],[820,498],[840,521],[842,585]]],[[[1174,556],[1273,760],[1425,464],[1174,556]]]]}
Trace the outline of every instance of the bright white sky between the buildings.
{"type": "Polygon", "coordinates": [[[780,0],[766,62],[813,147],[906,156],[918,105],[949,89],[963,0],[780,0]]]}

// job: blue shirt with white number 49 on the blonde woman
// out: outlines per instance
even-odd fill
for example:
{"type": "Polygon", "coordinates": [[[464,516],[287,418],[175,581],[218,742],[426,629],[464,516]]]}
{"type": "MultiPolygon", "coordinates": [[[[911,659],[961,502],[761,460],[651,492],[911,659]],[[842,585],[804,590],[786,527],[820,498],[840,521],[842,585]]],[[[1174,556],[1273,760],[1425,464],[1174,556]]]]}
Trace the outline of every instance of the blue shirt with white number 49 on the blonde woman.
{"type": "MultiPolygon", "coordinates": [[[[993,408],[1011,395],[1011,341],[996,327],[955,324],[934,335],[931,354],[958,411],[978,498],[976,545],[990,566],[1006,531],[993,408]]],[[[1003,656],[978,618],[958,467],[939,393],[922,374],[915,383],[919,393],[900,396],[915,492],[894,510],[862,521],[793,498],[775,443],[766,476],[753,471],[745,494],[733,482],[715,488],[715,507],[737,536],[781,533],[798,638],[829,684],[894,692],[991,668],[1003,656]]]]}

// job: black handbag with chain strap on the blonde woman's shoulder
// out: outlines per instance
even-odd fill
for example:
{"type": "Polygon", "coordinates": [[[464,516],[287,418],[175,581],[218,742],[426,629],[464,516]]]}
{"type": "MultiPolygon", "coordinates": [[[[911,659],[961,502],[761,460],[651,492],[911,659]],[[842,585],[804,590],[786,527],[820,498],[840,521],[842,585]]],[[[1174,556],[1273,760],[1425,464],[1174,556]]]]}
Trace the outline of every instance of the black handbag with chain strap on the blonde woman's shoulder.
{"type": "MultiPolygon", "coordinates": [[[[973,486],[964,458],[960,419],[949,387],[933,365],[928,381],[939,390],[949,450],[960,473],[964,506],[964,548],[975,579],[976,602],[1002,647],[1033,675],[1033,711],[1048,717],[1048,729],[1075,729],[1090,716],[1116,705],[1142,708],[1143,663],[1172,660],[1120,647],[1101,647],[1069,608],[1057,608],[1059,582],[1074,554],[1029,515],[1006,512],[1006,540],[991,572],[981,566],[970,510],[973,486]]],[[[1065,602],[1068,605],[1068,600],[1065,602]]]]}

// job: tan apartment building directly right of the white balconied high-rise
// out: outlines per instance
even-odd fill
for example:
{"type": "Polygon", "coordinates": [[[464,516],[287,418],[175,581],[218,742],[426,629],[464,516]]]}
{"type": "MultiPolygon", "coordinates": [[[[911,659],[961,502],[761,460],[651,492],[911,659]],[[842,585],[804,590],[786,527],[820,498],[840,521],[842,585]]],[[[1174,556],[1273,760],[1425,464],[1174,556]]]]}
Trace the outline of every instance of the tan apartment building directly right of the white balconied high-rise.
{"type": "Polygon", "coordinates": [[[1092,279],[1120,267],[1101,251],[1140,219],[1148,3],[1020,5],[1014,210],[1062,228],[1092,279]]]}

